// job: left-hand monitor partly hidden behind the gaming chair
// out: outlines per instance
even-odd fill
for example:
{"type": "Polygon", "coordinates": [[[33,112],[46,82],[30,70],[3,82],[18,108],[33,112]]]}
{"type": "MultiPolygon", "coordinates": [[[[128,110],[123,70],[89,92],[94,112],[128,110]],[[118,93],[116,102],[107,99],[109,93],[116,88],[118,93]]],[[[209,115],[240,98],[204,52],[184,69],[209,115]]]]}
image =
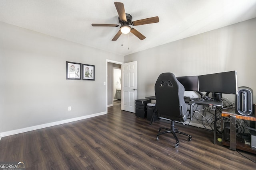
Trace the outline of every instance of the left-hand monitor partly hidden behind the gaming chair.
{"type": "Polygon", "coordinates": [[[198,91],[198,76],[176,77],[186,91],[198,91]]]}

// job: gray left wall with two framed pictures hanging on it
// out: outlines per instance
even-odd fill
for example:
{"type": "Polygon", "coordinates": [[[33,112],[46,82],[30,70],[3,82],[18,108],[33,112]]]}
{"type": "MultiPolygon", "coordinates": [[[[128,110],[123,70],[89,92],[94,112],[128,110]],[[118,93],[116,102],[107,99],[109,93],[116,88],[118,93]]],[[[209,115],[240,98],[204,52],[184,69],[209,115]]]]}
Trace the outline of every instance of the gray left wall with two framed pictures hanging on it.
{"type": "Polygon", "coordinates": [[[106,113],[107,59],[124,61],[121,55],[0,22],[0,133],[106,113]],[[95,81],[66,80],[66,61],[95,65],[95,81]]]}

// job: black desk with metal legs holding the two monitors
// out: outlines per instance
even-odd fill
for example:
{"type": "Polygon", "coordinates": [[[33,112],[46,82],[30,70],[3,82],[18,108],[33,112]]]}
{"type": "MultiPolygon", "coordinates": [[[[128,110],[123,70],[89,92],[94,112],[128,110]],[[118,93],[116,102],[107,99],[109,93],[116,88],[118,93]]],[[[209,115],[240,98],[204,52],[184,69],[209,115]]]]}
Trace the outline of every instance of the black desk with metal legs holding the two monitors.
{"type": "MultiPolygon", "coordinates": [[[[156,96],[150,96],[150,97],[146,97],[146,99],[151,99],[151,100],[156,100],[156,96]]],[[[202,101],[202,100],[194,100],[194,101],[186,101],[186,103],[188,103],[190,105],[190,119],[192,120],[192,117],[193,117],[193,106],[195,104],[198,104],[198,105],[203,105],[203,106],[217,106],[217,107],[220,107],[222,106],[222,102],[216,102],[216,101],[212,101],[212,100],[209,100],[209,101],[202,101]]],[[[157,105],[156,105],[157,107],[157,105]]],[[[156,113],[156,112],[154,112],[156,113]]],[[[153,115],[154,115],[153,113],[153,115]]],[[[213,143],[216,144],[216,126],[217,126],[217,109],[215,108],[215,114],[214,114],[214,138],[213,138],[213,143]]],[[[151,118],[151,121],[150,121],[150,125],[152,123],[152,118],[151,118]]]]}

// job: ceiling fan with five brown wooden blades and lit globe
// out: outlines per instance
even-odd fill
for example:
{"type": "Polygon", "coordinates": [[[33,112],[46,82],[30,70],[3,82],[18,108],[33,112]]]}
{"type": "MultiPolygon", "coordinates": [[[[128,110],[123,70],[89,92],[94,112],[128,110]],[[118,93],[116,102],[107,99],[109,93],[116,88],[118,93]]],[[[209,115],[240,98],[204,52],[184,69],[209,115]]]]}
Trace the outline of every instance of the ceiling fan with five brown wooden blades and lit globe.
{"type": "Polygon", "coordinates": [[[118,12],[118,20],[121,25],[118,24],[101,24],[101,23],[92,23],[93,27],[120,27],[120,30],[116,33],[112,41],[116,41],[122,33],[128,34],[129,32],[133,33],[136,37],[138,37],[140,40],[145,39],[146,37],[142,35],[139,31],[136,29],[130,27],[136,26],[136,25],[144,25],[148,23],[156,23],[159,22],[158,16],[152,17],[152,18],[146,18],[142,20],[132,21],[132,16],[130,14],[126,14],[124,10],[124,4],[121,2],[114,2],[116,6],[116,10],[118,12]]]}

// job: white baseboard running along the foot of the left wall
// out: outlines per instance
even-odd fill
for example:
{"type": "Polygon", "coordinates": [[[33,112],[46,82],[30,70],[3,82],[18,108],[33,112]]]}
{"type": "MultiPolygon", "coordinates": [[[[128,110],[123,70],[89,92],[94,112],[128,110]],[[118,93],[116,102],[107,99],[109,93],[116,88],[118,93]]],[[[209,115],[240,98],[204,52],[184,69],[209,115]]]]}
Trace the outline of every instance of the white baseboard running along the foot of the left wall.
{"type": "Polygon", "coordinates": [[[37,129],[42,129],[42,128],[46,128],[46,127],[61,125],[61,124],[64,124],[64,123],[70,123],[72,121],[88,119],[90,117],[96,117],[96,116],[105,115],[105,114],[107,114],[106,111],[101,112],[101,113],[95,113],[95,114],[92,114],[92,115],[86,115],[86,116],[81,116],[81,117],[75,117],[75,118],[72,118],[72,119],[66,119],[66,120],[46,123],[46,124],[42,124],[42,125],[36,125],[36,126],[31,126],[31,127],[25,127],[25,128],[22,128],[22,129],[16,129],[16,130],[12,130],[12,131],[1,132],[0,133],[0,140],[1,140],[2,137],[6,137],[6,136],[10,136],[10,135],[16,135],[18,133],[34,131],[34,130],[37,130],[37,129]]]}

